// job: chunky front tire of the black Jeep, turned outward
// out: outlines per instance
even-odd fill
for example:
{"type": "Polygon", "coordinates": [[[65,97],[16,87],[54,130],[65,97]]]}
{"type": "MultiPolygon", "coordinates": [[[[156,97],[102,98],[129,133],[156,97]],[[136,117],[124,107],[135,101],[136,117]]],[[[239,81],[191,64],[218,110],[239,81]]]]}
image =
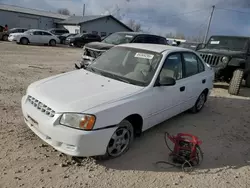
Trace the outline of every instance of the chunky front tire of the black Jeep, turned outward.
{"type": "Polygon", "coordinates": [[[243,70],[237,69],[233,73],[233,77],[229,83],[228,93],[231,95],[238,95],[240,92],[240,86],[243,79],[243,70]]]}

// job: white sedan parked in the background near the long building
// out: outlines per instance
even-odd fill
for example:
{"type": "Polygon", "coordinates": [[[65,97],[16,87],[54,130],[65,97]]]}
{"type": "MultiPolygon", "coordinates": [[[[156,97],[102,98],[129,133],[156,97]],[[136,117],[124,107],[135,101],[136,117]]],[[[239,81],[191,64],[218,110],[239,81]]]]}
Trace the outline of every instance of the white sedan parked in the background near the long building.
{"type": "Polygon", "coordinates": [[[45,30],[30,29],[24,33],[20,33],[9,37],[10,40],[16,41],[18,44],[49,44],[50,46],[55,46],[57,43],[60,43],[59,38],[53,35],[52,33],[45,30]]]}

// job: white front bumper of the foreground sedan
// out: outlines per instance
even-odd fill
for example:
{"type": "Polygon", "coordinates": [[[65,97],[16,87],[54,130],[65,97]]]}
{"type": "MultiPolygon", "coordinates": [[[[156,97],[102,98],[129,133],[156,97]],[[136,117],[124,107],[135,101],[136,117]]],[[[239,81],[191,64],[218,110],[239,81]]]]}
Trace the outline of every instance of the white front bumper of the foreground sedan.
{"type": "Polygon", "coordinates": [[[27,126],[44,142],[70,156],[104,155],[116,128],[82,131],[59,124],[60,114],[48,117],[22,98],[22,113],[27,126]],[[34,123],[37,122],[37,123],[34,123]]]}

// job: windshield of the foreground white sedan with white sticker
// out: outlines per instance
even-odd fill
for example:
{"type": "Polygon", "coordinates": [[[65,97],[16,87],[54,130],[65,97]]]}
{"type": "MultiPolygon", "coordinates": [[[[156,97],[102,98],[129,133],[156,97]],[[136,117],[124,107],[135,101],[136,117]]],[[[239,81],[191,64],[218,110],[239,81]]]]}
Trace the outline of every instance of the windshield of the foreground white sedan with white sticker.
{"type": "Polygon", "coordinates": [[[103,53],[87,70],[115,80],[147,86],[161,61],[162,54],[127,47],[114,47],[103,53]]]}

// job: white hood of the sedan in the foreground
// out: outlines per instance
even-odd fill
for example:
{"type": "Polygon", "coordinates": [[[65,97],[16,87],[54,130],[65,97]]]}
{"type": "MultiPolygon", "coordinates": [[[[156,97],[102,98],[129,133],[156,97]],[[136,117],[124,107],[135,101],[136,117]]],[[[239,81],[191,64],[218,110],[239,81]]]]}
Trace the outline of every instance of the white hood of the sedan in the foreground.
{"type": "Polygon", "coordinates": [[[27,95],[56,112],[85,112],[142,89],[80,69],[37,81],[28,87],[27,95]]]}

